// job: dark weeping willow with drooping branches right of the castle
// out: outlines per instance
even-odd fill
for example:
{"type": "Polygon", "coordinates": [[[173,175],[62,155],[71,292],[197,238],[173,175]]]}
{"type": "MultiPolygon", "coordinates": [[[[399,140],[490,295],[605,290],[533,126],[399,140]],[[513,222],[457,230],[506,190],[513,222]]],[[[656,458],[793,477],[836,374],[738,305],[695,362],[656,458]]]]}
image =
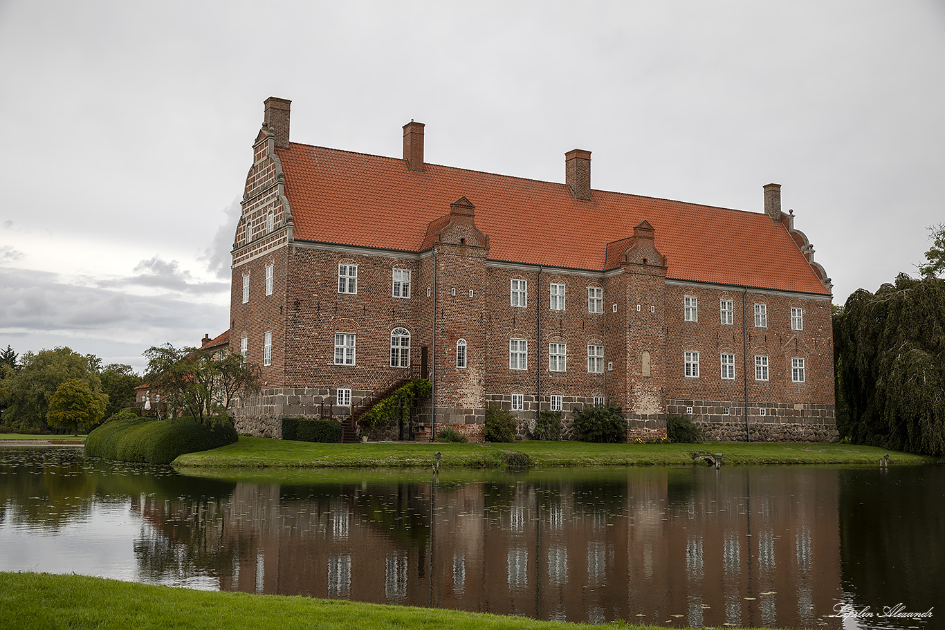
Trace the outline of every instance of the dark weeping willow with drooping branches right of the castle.
{"type": "Polygon", "coordinates": [[[945,280],[900,274],[833,319],[837,400],[853,442],[945,454],[945,280]]]}

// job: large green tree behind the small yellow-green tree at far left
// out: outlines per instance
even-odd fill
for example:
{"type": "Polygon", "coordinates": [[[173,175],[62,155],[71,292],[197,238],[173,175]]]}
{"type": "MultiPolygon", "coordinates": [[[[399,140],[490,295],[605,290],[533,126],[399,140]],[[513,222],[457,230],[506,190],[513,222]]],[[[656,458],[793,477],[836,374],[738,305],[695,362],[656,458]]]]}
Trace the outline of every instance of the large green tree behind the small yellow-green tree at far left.
{"type": "Polygon", "coordinates": [[[85,381],[95,394],[100,394],[102,383],[89,362],[89,356],[65,347],[26,352],[20,357],[20,368],[4,379],[9,383],[4,424],[14,429],[45,429],[49,400],[69,379],[85,381]]]}

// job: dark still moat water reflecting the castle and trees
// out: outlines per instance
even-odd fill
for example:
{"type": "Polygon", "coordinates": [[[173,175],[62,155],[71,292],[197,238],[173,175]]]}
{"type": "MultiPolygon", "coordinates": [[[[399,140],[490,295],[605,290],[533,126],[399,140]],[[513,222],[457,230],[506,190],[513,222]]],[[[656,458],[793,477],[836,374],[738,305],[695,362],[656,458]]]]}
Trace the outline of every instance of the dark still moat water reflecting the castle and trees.
{"type": "Polygon", "coordinates": [[[0,570],[566,621],[945,627],[945,467],[236,474],[0,448],[0,570]]]}

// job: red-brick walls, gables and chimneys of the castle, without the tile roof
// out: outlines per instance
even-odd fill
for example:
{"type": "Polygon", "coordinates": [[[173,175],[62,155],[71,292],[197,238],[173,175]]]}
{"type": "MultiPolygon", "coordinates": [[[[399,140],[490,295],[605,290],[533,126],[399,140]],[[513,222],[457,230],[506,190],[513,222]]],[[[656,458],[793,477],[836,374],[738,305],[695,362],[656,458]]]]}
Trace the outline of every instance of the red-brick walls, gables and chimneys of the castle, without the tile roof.
{"type": "MultiPolygon", "coordinates": [[[[404,126],[407,177],[429,175],[422,132],[419,123],[404,126]]],[[[431,420],[435,430],[451,426],[481,439],[493,404],[521,406],[513,409],[520,434],[539,410],[558,404],[570,427],[573,412],[595,399],[623,409],[630,438],[665,434],[666,414],[674,413],[691,414],[724,439],[746,439],[747,430],[752,439],[835,438],[829,279],[793,229],[793,214],[781,213],[780,187],[765,187],[770,223],[782,225],[807,273],[824,283],[818,294],[672,277],[661,232],[646,220],[602,247],[602,268],[496,260],[495,234],[465,196],[441,204],[414,249],[300,238],[296,221],[309,219],[293,216],[286,181],[293,191],[298,184],[277,150],[294,146],[288,133],[288,101],[267,100],[233,247],[230,348],[240,351],[245,338],[265,382],[235,409],[241,432],[281,437],[283,416],[350,414],[352,406],[338,404],[339,389],[351,390],[356,406],[422,375],[434,396],[414,417],[421,439],[429,439],[431,420]],[[764,326],[755,325],[755,304],[765,306],[764,326]],[[457,363],[460,348],[465,365],[457,363]],[[512,350],[523,354],[513,360],[512,350]],[[756,356],[765,357],[766,380],[755,378],[756,356]]],[[[566,179],[574,201],[590,203],[590,152],[568,154],[566,179]]],[[[385,209],[376,212],[383,222],[385,209]]],[[[528,238],[528,224],[522,229],[528,238]]]]}

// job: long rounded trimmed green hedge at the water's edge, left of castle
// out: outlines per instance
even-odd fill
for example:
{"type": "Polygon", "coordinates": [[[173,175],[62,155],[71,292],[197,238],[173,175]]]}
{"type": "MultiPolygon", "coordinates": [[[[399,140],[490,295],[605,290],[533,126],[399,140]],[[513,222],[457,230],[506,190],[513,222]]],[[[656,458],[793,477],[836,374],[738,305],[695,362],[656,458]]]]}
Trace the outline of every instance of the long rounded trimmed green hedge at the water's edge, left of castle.
{"type": "Polygon", "coordinates": [[[126,462],[170,464],[185,452],[209,451],[234,443],[232,422],[213,426],[192,417],[158,420],[115,414],[85,439],[85,454],[126,462]]]}

